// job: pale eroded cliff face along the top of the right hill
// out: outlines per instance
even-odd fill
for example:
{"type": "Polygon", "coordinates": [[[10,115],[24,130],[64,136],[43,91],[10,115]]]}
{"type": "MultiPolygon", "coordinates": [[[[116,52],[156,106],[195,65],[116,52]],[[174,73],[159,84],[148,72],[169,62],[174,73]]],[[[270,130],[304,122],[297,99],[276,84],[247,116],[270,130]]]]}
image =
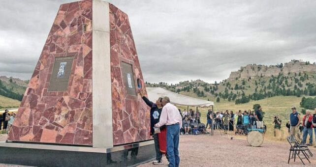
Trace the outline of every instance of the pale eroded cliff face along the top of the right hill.
{"type": "Polygon", "coordinates": [[[288,73],[299,73],[299,72],[312,72],[316,73],[315,64],[306,64],[306,62],[294,62],[290,61],[285,63],[282,68],[278,66],[266,66],[257,64],[248,64],[241,67],[240,70],[231,72],[228,80],[245,79],[249,77],[270,77],[272,75],[277,76],[279,73],[283,73],[285,76],[288,73]]]}

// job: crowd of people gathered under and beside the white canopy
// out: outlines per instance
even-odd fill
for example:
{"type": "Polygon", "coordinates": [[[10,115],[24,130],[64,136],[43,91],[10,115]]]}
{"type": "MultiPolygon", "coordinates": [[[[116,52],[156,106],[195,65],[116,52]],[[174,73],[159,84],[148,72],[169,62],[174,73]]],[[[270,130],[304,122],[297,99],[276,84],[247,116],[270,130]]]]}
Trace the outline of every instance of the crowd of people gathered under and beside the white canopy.
{"type": "MultiPolygon", "coordinates": [[[[179,110],[180,111],[180,110],[179,110]]],[[[183,127],[180,132],[183,135],[208,133],[206,129],[221,129],[225,134],[228,131],[234,131],[235,135],[247,135],[248,129],[262,128],[262,108],[257,107],[257,110],[245,111],[212,111],[208,110],[206,114],[206,125],[200,122],[201,112],[190,109],[181,112],[183,127]]]]}

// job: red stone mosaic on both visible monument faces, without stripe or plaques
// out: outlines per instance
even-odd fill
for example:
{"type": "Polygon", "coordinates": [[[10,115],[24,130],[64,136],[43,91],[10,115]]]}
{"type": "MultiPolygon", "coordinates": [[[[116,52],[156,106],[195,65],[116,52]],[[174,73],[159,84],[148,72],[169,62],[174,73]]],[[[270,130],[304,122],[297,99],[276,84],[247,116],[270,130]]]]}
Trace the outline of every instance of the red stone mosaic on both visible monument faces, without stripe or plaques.
{"type": "MultiPolygon", "coordinates": [[[[128,17],[112,4],[110,27],[114,145],[151,139],[149,108],[122,80],[123,61],[145,89],[128,17]]],[[[92,58],[92,0],[61,5],[8,140],[92,145],[92,58]],[[55,57],[63,56],[74,56],[67,91],[48,92],[55,57]]]]}

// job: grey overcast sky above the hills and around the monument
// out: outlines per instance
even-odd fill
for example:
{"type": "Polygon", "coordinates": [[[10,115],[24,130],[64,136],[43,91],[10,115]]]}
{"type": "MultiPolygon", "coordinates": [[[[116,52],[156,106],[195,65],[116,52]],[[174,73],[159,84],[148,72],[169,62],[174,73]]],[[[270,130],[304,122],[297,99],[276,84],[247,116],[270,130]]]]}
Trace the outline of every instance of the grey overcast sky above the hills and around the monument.
{"type": "MultiPolygon", "coordinates": [[[[60,4],[1,0],[0,75],[30,79],[60,4]]],[[[145,81],[229,77],[247,64],[316,61],[314,0],[109,0],[127,13],[145,81]]]]}

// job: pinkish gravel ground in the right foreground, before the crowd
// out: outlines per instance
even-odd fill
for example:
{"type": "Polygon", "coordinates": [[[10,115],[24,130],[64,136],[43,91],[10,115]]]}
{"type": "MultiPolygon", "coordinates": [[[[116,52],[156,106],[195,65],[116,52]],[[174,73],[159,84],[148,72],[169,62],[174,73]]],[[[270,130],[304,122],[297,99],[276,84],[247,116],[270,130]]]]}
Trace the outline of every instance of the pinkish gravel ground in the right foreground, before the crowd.
{"type": "MultiPolygon", "coordinates": [[[[300,167],[301,161],[290,160],[287,164],[289,144],[286,142],[263,141],[260,147],[248,145],[246,137],[230,135],[222,136],[215,132],[209,135],[180,136],[180,167],[300,167]]],[[[316,155],[316,149],[310,147],[316,155]]],[[[316,157],[303,160],[307,167],[316,167],[316,157]]],[[[163,157],[163,165],[152,165],[152,162],[139,167],[166,167],[167,160],[163,157]]]]}

